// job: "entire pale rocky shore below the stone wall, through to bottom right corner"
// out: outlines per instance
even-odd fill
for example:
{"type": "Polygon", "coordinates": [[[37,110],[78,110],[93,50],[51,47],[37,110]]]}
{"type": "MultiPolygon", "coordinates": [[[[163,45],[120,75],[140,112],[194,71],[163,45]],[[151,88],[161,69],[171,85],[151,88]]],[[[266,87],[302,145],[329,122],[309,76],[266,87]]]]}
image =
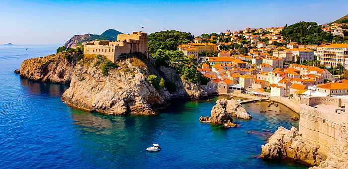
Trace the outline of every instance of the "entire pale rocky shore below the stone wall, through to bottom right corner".
{"type": "Polygon", "coordinates": [[[295,127],[290,130],[279,127],[261,149],[261,158],[265,160],[290,158],[315,166],[312,169],[348,168],[348,132],[344,133],[328,153],[323,153],[318,151],[319,146],[314,146],[302,138],[295,127]]]}

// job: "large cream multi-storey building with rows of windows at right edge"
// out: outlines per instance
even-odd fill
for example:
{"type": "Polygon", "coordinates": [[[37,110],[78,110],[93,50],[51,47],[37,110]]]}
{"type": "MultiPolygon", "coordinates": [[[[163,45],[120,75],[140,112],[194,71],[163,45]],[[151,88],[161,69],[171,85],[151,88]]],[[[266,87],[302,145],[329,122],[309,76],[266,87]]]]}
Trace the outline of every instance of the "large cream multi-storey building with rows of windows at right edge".
{"type": "Polygon", "coordinates": [[[330,68],[332,65],[334,68],[341,63],[346,69],[348,69],[348,44],[331,44],[324,47],[317,47],[317,58],[320,64],[330,68]]]}

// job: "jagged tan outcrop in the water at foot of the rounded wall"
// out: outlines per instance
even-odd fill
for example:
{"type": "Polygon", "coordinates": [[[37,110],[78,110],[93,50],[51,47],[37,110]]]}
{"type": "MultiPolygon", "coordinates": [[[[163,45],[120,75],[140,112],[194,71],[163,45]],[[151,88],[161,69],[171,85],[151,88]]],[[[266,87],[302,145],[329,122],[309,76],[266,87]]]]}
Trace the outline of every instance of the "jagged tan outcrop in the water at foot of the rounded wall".
{"type": "Polygon", "coordinates": [[[318,152],[319,147],[306,142],[295,127],[291,130],[279,127],[261,149],[263,159],[290,158],[312,166],[318,166],[325,157],[318,152]]]}

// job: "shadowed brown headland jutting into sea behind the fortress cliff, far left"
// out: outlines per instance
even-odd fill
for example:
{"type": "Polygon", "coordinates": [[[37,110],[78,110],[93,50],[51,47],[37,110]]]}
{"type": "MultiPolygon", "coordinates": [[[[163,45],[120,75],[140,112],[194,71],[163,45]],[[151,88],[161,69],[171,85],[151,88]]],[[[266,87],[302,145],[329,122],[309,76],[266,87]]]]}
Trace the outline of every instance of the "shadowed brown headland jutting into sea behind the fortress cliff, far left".
{"type": "Polygon", "coordinates": [[[77,53],[59,53],[23,61],[19,75],[22,78],[66,84],[71,81],[77,61],[77,53]]]}

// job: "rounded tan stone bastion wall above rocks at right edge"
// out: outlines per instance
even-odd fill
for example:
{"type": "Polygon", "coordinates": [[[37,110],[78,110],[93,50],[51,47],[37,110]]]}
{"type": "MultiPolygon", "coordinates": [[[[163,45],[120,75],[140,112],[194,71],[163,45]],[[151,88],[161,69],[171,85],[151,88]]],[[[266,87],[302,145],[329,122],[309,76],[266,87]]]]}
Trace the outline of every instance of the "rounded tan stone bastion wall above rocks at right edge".
{"type": "Polygon", "coordinates": [[[302,97],[299,122],[302,137],[327,152],[347,127],[347,101],[336,97],[302,97]]]}

